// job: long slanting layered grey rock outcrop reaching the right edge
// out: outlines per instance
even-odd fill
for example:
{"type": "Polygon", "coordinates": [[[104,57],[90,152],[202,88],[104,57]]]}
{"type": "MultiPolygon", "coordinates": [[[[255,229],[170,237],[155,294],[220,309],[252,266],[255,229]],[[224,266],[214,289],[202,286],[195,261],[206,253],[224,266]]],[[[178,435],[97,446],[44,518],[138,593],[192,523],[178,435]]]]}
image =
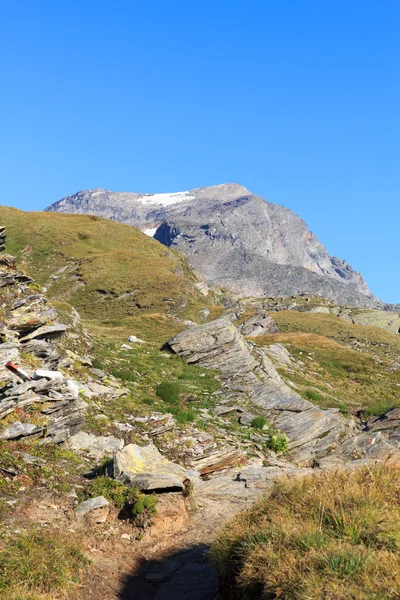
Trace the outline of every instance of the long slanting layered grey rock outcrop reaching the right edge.
{"type": "MultiPolygon", "coordinates": [[[[276,371],[270,357],[286,366],[291,361],[280,344],[257,349],[222,318],[184,331],[168,345],[188,363],[220,372],[225,393],[215,409],[217,415],[239,411],[242,424],[255,414],[265,415],[289,438],[287,458],[297,465],[337,468],[368,460],[400,460],[400,409],[356,425],[337,409],[315,406],[289,388],[276,371]]],[[[283,466],[277,467],[277,474],[283,473],[283,466]]],[[[262,477],[268,479],[269,473],[263,472],[262,477]]]]}

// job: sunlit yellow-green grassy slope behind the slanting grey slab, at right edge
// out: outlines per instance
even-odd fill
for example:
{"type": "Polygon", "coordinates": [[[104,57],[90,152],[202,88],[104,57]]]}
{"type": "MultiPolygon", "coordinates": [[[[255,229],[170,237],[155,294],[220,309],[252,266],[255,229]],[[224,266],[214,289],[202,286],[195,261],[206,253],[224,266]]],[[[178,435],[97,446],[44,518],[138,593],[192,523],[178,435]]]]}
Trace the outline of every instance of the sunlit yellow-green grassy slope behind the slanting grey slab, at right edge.
{"type": "Polygon", "coordinates": [[[298,369],[281,370],[306,398],[344,412],[380,414],[400,406],[400,337],[376,327],[352,325],[334,315],[273,313],[281,333],[257,344],[283,343],[298,369]]]}

